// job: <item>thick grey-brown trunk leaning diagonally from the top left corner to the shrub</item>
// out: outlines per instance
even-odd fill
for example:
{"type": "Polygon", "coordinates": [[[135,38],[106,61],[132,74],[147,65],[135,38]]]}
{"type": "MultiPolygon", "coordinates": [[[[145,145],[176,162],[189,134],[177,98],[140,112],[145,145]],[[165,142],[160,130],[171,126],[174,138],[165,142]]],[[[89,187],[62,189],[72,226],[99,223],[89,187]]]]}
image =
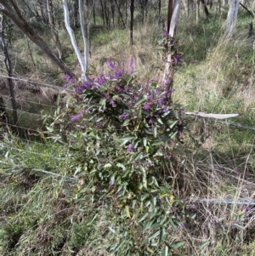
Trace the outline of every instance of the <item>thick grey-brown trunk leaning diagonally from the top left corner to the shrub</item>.
{"type": "Polygon", "coordinates": [[[14,21],[14,24],[20,28],[21,31],[26,34],[27,37],[31,39],[31,41],[39,48],[42,49],[42,52],[50,58],[59,68],[68,74],[71,77],[75,77],[73,72],[65,65],[63,60],[60,60],[59,57],[54,54],[51,48],[48,47],[48,44],[42,39],[42,37],[38,36],[37,32],[34,31],[31,26],[28,25],[22,14],[20,13],[20,9],[14,0],[0,0],[0,12],[8,16],[10,20],[14,21]]]}

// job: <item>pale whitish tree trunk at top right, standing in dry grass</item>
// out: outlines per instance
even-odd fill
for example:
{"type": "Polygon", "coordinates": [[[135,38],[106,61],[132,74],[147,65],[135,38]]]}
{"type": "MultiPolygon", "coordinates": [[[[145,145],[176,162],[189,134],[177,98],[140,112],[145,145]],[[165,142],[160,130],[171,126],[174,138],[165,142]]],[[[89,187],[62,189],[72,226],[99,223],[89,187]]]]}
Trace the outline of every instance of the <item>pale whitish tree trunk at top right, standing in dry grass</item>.
{"type": "Polygon", "coordinates": [[[226,34],[232,37],[235,33],[235,25],[237,20],[238,8],[240,0],[230,0],[229,13],[227,18],[226,34]]]}

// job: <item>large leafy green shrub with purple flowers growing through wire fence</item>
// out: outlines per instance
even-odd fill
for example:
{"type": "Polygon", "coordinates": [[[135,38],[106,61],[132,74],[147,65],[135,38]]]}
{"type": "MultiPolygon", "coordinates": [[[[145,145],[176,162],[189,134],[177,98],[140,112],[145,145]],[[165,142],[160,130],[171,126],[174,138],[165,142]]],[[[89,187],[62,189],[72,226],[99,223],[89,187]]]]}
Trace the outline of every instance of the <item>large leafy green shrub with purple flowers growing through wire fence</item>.
{"type": "Polygon", "coordinates": [[[74,94],[49,129],[58,127],[55,138],[61,134],[70,146],[71,172],[80,179],[76,196],[93,192],[92,200],[110,209],[109,251],[166,253],[183,244],[167,240],[171,229],[182,226],[176,209],[183,204],[173,196],[169,201],[169,195],[183,110],[161,82],[136,82],[132,61],[129,71],[113,61],[109,67],[108,74],[86,82],[66,77],[65,87],[74,88],[74,94]]]}

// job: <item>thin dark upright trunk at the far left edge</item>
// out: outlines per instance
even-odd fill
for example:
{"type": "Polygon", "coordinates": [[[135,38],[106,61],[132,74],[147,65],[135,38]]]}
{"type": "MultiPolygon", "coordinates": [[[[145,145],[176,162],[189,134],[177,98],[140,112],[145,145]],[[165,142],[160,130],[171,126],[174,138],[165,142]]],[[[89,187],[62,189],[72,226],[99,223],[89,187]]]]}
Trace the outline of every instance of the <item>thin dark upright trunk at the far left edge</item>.
{"type": "Polygon", "coordinates": [[[14,125],[18,126],[17,104],[15,99],[15,93],[14,93],[14,83],[12,80],[13,66],[8,55],[8,45],[5,43],[5,39],[4,39],[3,14],[0,14],[0,45],[4,54],[4,64],[8,72],[8,88],[9,88],[11,102],[13,106],[14,125]]]}

